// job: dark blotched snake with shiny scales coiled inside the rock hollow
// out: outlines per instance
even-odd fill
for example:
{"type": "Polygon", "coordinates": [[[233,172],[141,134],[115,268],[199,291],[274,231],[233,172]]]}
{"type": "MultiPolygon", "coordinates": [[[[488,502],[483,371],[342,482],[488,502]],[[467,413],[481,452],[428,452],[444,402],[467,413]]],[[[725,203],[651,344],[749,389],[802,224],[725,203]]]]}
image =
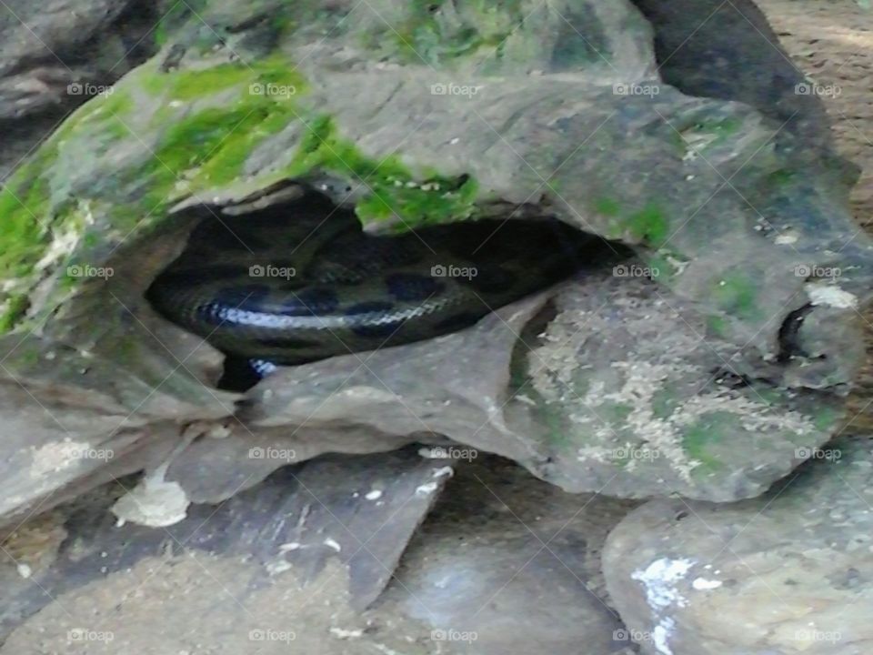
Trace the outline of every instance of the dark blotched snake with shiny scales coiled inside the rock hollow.
{"type": "Polygon", "coordinates": [[[226,356],[219,388],[245,390],[278,366],[469,328],[570,276],[598,241],[555,217],[371,234],[311,194],[206,216],[146,298],[226,356]]]}

